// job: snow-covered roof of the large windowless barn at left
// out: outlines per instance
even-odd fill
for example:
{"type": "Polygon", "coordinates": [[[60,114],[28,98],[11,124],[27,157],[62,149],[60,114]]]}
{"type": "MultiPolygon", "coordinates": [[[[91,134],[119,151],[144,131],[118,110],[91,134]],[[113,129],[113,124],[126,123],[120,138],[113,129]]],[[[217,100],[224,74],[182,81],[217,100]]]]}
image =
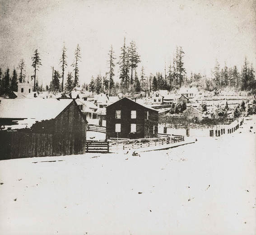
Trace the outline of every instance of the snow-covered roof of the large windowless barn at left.
{"type": "Polygon", "coordinates": [[[1,99],[0,118],[50,120],[56,118],[71,102],[71,99],[1,99]]]}

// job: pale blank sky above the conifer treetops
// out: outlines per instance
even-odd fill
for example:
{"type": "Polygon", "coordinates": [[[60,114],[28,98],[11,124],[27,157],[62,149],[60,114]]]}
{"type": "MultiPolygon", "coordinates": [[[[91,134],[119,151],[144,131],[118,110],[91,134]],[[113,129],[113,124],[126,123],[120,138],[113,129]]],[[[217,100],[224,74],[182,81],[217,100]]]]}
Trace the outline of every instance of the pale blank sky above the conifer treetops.
{"type": "MultiPolygon", "coordinates": [[[[42,66],[37,74],[44,86],[51,80],[52,65],[61,72],[63,41],[65,77],[80,45],[82,84],[105,74],[110,46],[118,58],[123,37],[136,42],[142,61],[137,71],[144,66],[146,75],[163,72],[176,46],[185,51],[188,75],[210,74],[216,59],[221,66],[226,61],[240,69],[246,55],[256,67],[256,1],[0,0],[0,67],[12,71],[23,58],[30,77],[38,48],[42,66]]],[[[118,65],[115,74],[117,80],[118,65]]]]}

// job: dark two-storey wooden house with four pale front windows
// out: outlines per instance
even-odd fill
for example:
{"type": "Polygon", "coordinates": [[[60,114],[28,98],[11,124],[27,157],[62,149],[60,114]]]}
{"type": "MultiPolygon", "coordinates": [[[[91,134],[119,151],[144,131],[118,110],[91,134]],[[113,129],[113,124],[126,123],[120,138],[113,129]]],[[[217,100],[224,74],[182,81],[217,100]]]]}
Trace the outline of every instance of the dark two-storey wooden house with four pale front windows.
{"type": "Polygon", "coordinates": [[[156,138],[158,111],[126,97],[106,107],[107,138],[156,138]]]}

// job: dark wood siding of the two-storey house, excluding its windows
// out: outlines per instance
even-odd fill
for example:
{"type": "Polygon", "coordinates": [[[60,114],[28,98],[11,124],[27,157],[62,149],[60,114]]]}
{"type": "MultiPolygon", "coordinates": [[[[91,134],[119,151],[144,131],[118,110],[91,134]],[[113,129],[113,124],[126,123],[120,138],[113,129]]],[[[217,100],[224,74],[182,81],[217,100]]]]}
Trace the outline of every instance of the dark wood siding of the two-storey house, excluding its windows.
{"type": "Polygon", "coordinates": [[[157,137],[158,112],[124,98],[107,107],[107,138],[117,138],[116,123],[121,124],[118,138],[147,138],[145,125],[149,126],[149,137],[157,137]],[[116,119],[116,110],[121,110],[121,119],[116,119]],[[136,119],[131,119],[132,110],[136,111],[136,119]],[[149,111],[149,120],[147,120],[147,111],[149,111]],[[136,133],[130,132],[131,124],[136,124],[136,133]],[[156,126],[155,135],[153,135],[153,124],[156,126]]]}

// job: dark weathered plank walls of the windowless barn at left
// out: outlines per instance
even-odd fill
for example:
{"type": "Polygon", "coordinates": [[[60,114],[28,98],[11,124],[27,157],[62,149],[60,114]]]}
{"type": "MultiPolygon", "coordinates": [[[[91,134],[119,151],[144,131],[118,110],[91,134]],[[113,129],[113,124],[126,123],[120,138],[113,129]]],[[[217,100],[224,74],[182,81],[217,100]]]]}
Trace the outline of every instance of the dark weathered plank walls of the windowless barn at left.
{"type": "Polygon", "coordinates": [[[0,160],[84,153],[86,120],[72,102],[55,119],[38,122],[31,129],[0,131],[0,143],[0,160]]]}

